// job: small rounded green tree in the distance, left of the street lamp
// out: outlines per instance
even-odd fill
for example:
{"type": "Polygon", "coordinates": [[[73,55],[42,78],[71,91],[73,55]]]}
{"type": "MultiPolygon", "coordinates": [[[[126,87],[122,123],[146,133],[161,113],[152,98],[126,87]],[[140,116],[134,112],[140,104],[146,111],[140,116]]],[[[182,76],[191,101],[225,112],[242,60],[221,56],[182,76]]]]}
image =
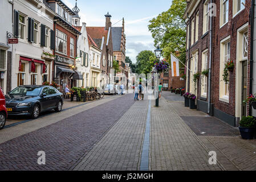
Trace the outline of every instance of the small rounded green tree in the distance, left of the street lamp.
{"type": "Polygon", "coordinates": [[[154,66],[155,54],[152,51],[141,51],[136,56],[136,73],[147,75],[154,66]]]}

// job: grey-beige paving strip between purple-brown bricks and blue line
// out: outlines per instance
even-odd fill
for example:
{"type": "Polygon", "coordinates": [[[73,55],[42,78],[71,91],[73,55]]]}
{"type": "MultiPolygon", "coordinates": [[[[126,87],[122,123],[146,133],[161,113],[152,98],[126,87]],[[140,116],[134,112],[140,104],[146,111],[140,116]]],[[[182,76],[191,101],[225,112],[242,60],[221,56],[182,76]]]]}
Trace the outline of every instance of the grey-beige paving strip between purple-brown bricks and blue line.
{"type": "Polygon", "coordinates": [[[139,170],[147,110],[148,101],[137,101],[74,169],[139,170]]]}

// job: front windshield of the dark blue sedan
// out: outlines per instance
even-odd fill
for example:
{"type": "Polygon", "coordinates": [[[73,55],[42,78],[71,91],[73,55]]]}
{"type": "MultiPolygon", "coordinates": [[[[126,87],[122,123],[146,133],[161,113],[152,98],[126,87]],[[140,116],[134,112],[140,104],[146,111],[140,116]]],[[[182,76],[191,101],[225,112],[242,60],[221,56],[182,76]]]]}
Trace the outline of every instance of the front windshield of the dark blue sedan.
{"type": "Polygon", "coordinates": [[[17,87],[10,92],[13,95],[22,95],[22,96],[39,96],[42,88],[36,87],[17,87]]]}

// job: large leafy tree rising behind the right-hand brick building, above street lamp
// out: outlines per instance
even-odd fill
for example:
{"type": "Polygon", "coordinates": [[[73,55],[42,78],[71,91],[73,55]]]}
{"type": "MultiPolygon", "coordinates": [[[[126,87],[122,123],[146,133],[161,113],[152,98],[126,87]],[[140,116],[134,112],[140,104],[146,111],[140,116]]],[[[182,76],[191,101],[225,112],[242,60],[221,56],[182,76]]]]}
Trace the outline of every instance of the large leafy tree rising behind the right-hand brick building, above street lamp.
{"type": "Polygon", "coordinates": [[[186,0],[173,0],[169,10],[149,21],[155,46],[162,48],[166,60],[170,61],[170,53],[173,53],[183,63],[186,61],[186,23],[182,19],[185,9],[186,0]]]}

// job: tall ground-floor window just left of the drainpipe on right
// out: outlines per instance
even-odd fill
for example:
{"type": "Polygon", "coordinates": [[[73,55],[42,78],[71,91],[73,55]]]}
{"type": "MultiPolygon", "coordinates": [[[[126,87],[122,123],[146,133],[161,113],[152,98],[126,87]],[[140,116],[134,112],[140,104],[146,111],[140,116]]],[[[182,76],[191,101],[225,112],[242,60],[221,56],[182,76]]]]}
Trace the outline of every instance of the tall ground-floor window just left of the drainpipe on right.
{"type": "MultiPolygon", "coordinates": [[[[202,52],[201,71],[208,69],[208,51],[202,52]]],[[[207,96],[207,77],[201,75],[201,96],[207,96]]]]}

